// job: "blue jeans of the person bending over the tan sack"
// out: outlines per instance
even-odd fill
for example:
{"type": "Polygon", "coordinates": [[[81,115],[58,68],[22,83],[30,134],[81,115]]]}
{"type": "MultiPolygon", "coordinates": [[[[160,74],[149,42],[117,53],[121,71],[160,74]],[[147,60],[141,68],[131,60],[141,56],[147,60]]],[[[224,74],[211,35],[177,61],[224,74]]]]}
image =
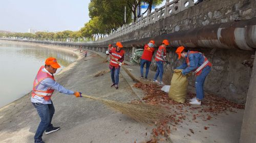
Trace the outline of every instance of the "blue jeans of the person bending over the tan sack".
{"type": "Polygon", "coordinates": [[[206,66],[203,68],[202,73],[196,77],[196,92],[197,99],[202,100],[204,98],[204,81],[208,73],[210,72],[210,67],[206,66]]]}

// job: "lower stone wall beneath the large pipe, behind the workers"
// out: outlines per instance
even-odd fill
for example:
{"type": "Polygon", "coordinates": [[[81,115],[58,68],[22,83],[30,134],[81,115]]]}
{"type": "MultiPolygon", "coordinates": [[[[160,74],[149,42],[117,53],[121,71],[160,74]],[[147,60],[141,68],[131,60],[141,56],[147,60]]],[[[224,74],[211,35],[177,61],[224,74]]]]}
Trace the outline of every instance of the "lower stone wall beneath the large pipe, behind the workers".
{"type": "MultiPolygon", "coordinates": [[[[124,50],[125,60],[130,61],[132,48],[124,48],[124,50]]],[[[254,51],[243,51],[239,49],[191,50],[203,52],[212,63],[211,72],[205,80],[204,90],[209,94],[221,96],[228,100],[244,104],[246,101],[252,67],[245,66],[242,63],[245,60],[252,62],[253,59],[251,59],[251,55],[254,55],[254,51]]],[[[164,66],[165,71],[163,81],[165,84],[170,84],[173,70],[181,65],[183,60],[177,61],[178,56],[173,48],[167,48],[167,59],[170,61],[170,65],[164,66]]],[[[154,59],[152,61],[151,70],[156,70],[154,59]]],[[[195,75],[189,77],[189,84],[195,85],[195,75]]]]}

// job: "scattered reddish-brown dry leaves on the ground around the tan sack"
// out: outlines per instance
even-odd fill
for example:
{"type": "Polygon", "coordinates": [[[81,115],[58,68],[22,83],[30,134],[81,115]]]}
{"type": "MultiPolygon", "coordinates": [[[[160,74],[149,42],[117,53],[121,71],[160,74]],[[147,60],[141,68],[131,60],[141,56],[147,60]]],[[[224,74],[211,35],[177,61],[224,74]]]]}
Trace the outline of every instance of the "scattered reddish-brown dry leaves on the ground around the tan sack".
{"type": "MultiPolygon", "coordinates": [[[[163,120],[157,125],[156,128],[152,130],[151,142],[154,142],[159,136],[168,137],[171,130],[177,130],[177,125],[183,123],[184,120],[194,121],[198,123],[197,120],[208,121],[213,117],[210,115],[218,115],[219,113],[226,113],[227,111],[236,112],[234,108],[244,109],[244,105],[239,105],[237,103],[230,102],[225,98],[218,97],[215,95],[206,95],[202,101],[203,106],[191,106],[189,104],[189,99],[196,97],[196,94],[188,93],[186,97],[186,102],[184,104],[178,103],[172,99],[169,99],[168,94],[161,91],[161,87],[154,83],[136,83],[134,87],[145,91],[145,96],[143,100],[145,103],[152,105],[161,105],[169,110],[169,115],[166,115],[167,119],[163,117],[163,120]],[[186,115],[191,115],[192,119],[186,117],[186,115]],[[172,127],[168,126],[172,125],[172,127]]],[[[139,103],[139,100],[132,101],[134,103],[139,103]]],[[[216,126],[216,125],[212,125],[216,126]]],[[[209,127],[204,127],[207,130],[209,127]]],[[[192,129],[189,129],[191,133],[194,133],[192,129]]],[[[158,139],[159,140],[159,139],[158,139]]],[[[150,141],[148,141],[150,142],[150,141]]]]}

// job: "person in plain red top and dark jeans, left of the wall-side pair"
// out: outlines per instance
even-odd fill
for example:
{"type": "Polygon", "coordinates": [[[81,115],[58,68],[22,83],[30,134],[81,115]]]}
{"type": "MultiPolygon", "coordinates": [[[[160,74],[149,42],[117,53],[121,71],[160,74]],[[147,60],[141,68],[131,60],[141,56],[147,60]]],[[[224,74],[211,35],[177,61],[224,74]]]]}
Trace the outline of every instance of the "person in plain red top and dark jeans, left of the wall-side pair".
{"type": "Polygon", "coordinates": [[[151,40],[149,43],[147,43],[144,46],[144,51],[142,53],[141,56],[141,62],[140,62],[140,79],[143,79],[143,69],[144,69],[144,65],[146,64],[146,74],[145,74],[145,79],[147,79],[147,74],[148,71],[150,69],[150,65],[151,65],[151,61],[152,61],[152,56],[154,54],[154,45],[155,45],[155,41],[151,40]]]}

